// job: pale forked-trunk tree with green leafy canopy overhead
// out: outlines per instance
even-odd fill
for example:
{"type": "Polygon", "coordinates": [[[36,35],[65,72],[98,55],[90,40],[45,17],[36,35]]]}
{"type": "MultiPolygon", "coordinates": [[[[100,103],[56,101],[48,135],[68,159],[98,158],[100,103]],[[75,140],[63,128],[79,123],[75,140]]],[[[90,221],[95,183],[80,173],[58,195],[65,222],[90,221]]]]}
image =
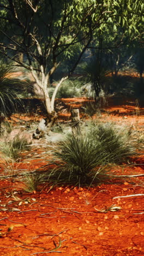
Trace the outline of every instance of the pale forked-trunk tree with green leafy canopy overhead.
{"type": "Polygon", "coordinates": [[[0,30],[5,37],[0,51],[32,73],[43,91],[50,124],[56,118],[54,102],[59,86],[75,71],[85,51],[93,48],[97,34],[109,28],[117,33],[121,27],[121,41],[126,34],[138,37],[143,20],[142,0],[2,0],[0,8],[1,20],[11,27],[0,30]],[[67,57],[71,60],[69,72],[61,77],[50,98],[50,77],[67,57]]]}

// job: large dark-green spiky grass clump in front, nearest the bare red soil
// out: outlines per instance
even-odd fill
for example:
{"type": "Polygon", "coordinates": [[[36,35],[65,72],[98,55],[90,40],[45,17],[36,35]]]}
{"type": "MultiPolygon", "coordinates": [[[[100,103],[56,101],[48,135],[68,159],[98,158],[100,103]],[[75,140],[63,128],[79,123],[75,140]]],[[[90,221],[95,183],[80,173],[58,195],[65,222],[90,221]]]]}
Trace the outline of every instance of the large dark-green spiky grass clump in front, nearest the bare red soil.
{"type": "Polygon", "coordinates": [[[82,184],[91,183],[92,179],[100,181],[106,178],[107,156],[100,152],[91,133],[87,136],[68,135],[67,139],[58,145],[54,155],[56,167],[51,171],[49,180],[82,184]]]}

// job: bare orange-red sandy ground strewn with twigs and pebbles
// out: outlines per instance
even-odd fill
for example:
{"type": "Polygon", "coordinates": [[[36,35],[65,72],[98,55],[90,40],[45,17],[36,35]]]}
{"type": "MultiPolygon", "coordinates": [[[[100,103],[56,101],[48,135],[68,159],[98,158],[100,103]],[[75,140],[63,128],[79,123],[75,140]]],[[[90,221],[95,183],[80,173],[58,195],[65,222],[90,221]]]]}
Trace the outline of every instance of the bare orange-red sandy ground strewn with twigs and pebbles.
{"type": "MultiPolygon", "coordinates": [[[[69,102],[82,104],[83,99],[65,100],[65,103],[69,102]]],[[[109,106],[107,113],[98,118],[133,125],[133,129],[142,131],[143,110],[130,103],[109,106]]],[[[22,118],[25,120],[25,115],[22,118]]],[[[68,115],[59,116],[59,120],[65,118],[68,115]]],[[[29,171],[40,168],[47,162],[29,159],[28,155],[37,155],[41,150],[35,147],[27,157],[25,155],[25,161],[14,163],[12,167],[29,171]]],[[[26,193],[14,179],[1,179],[0,254],[144,255],[144,157],[142,151],[139,153],[131,159],[135,166],[117,166],[113,172],[143,176],[115,183],[110,181],[97,187],[44,187],[26,193]],[[15,197],[12,192],[17,193],[15,197]],[[127,195],[136,196],[121,197],[127,195]],[[112,205],[121,208],[116,212],[109,211],[112,205]]],[[[3,164],[1,162],[1,173],[3,164]]]]}

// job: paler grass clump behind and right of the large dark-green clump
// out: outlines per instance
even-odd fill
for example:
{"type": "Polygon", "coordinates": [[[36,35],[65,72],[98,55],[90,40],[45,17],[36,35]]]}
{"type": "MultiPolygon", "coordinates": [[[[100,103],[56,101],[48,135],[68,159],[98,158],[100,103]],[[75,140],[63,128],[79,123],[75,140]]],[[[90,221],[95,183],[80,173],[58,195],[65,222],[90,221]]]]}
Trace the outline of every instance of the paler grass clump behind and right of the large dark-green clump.
{"type": "Polygon", "coordinates": [[[118,127],[113,123],[92,123],[93,139],[99,143],[107,163],[121,164],[135,149],[131,141],[130,127],[118,127]]]}

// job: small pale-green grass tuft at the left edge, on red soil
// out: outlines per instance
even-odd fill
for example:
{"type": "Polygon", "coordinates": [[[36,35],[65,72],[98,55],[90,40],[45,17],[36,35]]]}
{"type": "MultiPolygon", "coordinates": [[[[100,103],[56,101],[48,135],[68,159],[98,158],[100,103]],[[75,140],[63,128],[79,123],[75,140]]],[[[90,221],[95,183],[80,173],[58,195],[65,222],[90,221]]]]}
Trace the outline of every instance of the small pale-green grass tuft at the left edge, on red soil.
{"type": "Polygon", "coordinates": [[[21,151],[29,150],[29,147],[27,139],[16,136],[13,140],[2,143],[0,150],[4,156],[16,161],[20,158],[21,151]]]}

